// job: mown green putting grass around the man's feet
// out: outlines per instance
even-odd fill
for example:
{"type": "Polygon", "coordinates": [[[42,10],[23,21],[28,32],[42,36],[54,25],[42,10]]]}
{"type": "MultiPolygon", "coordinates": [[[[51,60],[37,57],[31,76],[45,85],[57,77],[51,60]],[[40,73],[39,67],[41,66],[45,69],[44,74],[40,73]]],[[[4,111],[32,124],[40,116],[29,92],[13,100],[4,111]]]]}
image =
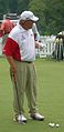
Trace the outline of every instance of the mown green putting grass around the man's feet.
{"type": "MultiPolygon", "coordinates": [[[[64,62],[36,59],[38,108],[45,116],[43,122],[28,120],[25,125],[12,121],[13,93],[9,64],[0,58],[0,132],[64,132],[64,62]],[[49,123],[60,128],[50,128],[49,123]]],[[[25,116],[29,116],[26,102],[25,116]]]]}

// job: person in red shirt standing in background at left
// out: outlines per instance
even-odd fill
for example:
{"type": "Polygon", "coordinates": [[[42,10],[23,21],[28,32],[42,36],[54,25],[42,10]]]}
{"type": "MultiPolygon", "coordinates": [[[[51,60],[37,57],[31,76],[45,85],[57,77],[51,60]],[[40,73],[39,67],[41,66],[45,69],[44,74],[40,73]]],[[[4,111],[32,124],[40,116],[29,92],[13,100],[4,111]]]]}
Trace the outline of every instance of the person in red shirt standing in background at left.
{"type": "Polygon", "coordinates": [[[10,33],[10,31],[14,28],[14,24],[13,22],[10,20],[10,17],[7,16],[6,17],[6,20],[2,21],[1,23],[1,33],[3,34],[3,38],[2,38],[2,44],[6,43],[6,40],[8,38],[8,34],[10,33]]]}

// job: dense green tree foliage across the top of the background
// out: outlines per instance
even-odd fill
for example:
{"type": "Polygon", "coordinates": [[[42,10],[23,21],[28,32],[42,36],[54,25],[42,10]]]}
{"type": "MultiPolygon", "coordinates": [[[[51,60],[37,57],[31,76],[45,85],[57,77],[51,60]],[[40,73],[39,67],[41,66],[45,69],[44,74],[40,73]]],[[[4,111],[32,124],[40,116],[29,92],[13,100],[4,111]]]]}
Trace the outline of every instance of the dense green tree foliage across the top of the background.
{"type": "Polygon", "coordinates": [[[64,0],[0,0],[0,18],[7,12],[33,11],[40,19],[41,34],[56,34],[64,30],[64,0]]]}

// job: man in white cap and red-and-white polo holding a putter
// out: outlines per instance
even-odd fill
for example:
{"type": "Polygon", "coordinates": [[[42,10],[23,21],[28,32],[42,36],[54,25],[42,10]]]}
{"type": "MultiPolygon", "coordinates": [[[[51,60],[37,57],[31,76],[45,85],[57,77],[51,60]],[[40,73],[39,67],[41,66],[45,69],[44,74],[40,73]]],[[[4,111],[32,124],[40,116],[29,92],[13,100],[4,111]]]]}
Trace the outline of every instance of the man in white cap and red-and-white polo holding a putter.
{"type": "Polygon", "coordinates": [[[10,64],[11,79],[13,82],[13,106],[15,121],[26,122],[24,116],[24,92],[30,109],[30,118],[42,121],[44,116],[38,113],[36,109],[36,75],[35,75],[35,47],[32,26],[39,18],[31,11],[24,11],[17,24],[9,34],[3,53],[10,64]]]}

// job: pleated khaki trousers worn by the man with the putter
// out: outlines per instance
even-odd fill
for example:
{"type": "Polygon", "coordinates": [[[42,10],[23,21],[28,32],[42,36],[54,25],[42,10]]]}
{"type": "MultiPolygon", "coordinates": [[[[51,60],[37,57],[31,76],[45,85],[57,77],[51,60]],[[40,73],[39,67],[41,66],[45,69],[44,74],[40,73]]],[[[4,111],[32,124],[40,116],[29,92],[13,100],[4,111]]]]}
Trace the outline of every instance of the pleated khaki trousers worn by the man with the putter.
{"type": "Polygon", "coordinates": [[[24,112],[24,92],[30,112],[36,111],[36,72],[34,63],[14,61],[17,65],[17,85],[13,83],[13,108],[15,114],[24,112]],[[18,92],[18,93],[17,93],[18,92]]]}

